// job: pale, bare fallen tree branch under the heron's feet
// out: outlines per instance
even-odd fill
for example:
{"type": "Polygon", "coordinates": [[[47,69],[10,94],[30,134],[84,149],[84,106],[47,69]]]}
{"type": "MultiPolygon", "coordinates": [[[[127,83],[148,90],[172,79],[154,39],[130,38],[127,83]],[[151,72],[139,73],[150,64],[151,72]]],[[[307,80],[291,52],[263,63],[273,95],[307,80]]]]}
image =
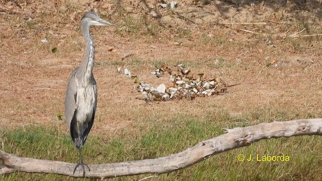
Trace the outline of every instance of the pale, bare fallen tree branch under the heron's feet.
{"type": "MultiPolygon", "coordinates": [[[[303,119],[284,122],[262,123],[244,128],[224,129],[227,133],[202,141],[183,152],[155,159],[124,161],[109,164],[89,165],[86,177],[107,178],[143,173],[168,173],[186,168],[209,158],[211,155],[235,148],[249,146],[262,139],[300,135],[322,135],[322,119],[303,119]]],[[[54,173],[82,177],[77,170],[73,175],[74,163],[16,157],[0,150],[0,174],[11,172],[54,173]]]]}

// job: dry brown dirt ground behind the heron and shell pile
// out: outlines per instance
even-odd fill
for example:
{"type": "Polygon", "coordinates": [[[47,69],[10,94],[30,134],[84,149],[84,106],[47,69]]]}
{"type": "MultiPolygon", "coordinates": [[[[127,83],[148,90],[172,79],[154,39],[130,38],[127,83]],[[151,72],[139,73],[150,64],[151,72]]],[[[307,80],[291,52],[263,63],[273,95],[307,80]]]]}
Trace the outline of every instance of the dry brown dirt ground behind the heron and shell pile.
{"type": "Polygon", "coordinates": [[[0,127],[42,124],[67,132],[56,114],[63,114],[68,76],[82,62],[79,20],[91,9],[116,25],[91,29],[98,63],[93,133],[131,127],[139,117],[199,117],[221,108],[231,115],[273,107],[322,116],[322,39],[315,35],[322,33],[321,1],[183,0],[174,12],[157,1],[89,2],[0,1],[0,127]],[[149,74],[158,61],[241,84],[223,96],[147,104],[115,65],[151,85],[169,85],[168,77],[149,74]]]}

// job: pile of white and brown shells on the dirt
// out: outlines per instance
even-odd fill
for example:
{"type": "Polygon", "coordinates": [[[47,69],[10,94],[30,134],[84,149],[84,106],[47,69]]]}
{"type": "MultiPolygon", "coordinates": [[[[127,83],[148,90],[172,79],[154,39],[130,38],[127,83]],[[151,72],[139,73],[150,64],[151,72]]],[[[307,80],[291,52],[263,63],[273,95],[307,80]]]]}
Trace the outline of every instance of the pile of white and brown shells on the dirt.
{"type": "MultiPolygon", "coordinates": [[[[155,72],[150,72],[150,74],[159,78],[165,73],[169,73],[173,85],[167,87],[162,83],[154,88],[149,84],[140,81],[136,76],[132,76],[128,69],[124,69],[124,74],[135,79],[135,82],[138,83],[137,91],[142,93],[147,102],[169,101],[182,98],[194,99],[197,96],[205,97],[224,94],[226,91],[225,83],[222,82],[219,76],[212,79],[203,78],[203,73],[190,76],[190,70],[185,69],[182,64],[176,66],[177,71],[172,71],[165,66],[162,67],[163,68],[156,69],[155,72]]],[[[121,69],[118,68],[119,72],[120,70],[121,69]]]]}

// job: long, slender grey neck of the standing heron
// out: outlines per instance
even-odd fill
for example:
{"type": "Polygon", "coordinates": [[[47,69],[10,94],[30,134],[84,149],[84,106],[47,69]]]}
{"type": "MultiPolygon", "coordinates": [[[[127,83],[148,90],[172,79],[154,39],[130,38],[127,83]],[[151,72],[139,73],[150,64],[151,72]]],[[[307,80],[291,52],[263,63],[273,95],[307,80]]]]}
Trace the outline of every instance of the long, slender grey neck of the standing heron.
{"type": "Polygon", "coordinates": [[[83,80],[89,83],[91,81],[91,76],[93,75],[95,42],[89,29],[87,31],[83,31],[83,36],[86,43],[85,56],[82,63],[82,69],[83,69],[82,72],[84,72],[83,80]]]}

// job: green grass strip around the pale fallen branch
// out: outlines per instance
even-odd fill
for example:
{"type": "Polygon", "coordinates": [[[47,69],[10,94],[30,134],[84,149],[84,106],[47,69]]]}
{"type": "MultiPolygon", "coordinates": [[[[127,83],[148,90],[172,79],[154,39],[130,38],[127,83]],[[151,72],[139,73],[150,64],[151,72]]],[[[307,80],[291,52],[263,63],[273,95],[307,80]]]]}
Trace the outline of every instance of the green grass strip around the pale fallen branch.
{"type": "MultiPolygon", "coordinates": [[[[176,115],[168,120],[146,118],[136,129],[124,128],[115,134],[95,135],[91,132],[83,147],[85,163],[102,164],[157,158],[181,152],[202,140],[224,134],[221,128],[250,126],[255,122],[272,122],[272,117],[282,120],[296,115],[272,108],[250,111],[240,117],[229,116],[223,108],[214,114],[206,113],[198,119],[189,115],[176,115]],[[208,115],[208,116],[207,116],[208,115]],[[214,119],[214,117],[217,117],[214,119]],[[247,120],[247,121],[245,121],[247,120]],[[227,122],[229,124],[227,124],[227,122]],[[236,122],[244,122],[243,125],[236,122]],[[225,123],[225,124],[223,124],[225,123]],[[147,126],[149,125],[149,126],[147,126]]],[[[29,125],[15,130],[1,130],[3,150],[20,156],[76,163],[78,153],[69,135],[55,127],[29,125]]],[[[262,140],[248,147],[214,155],[207,160],[172,173],[162,174],[152,180],[318,180],[321,164],[319,136],[300,136],[262,140]],[[244,154],[255,161],[238,161],[244,154]],[[257,161],[263,155],[285,155],[290,161],[257,161]]],[[[113,180],[138,180],[149,175],[126,176],[113,180]]],[[[76,180],[54,174],[12,173],[1,175],[0,180],[76,180]]],[[[77,179],[78,180],[78,179],[77,179]]],[[[81,179],[82,180],[82,179],[81,179]]]]}

